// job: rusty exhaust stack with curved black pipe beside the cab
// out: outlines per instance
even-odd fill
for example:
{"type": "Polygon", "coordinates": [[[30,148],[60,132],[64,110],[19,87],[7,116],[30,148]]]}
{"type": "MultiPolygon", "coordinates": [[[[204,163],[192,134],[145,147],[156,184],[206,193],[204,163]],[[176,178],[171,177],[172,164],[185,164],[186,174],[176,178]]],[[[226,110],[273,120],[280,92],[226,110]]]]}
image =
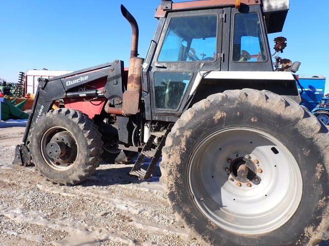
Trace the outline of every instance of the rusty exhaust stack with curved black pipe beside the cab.
{"type": "Polygon", "coordinates": [[[144,59],[137,57],[139,29],[136,19],[123,5],[121,5],[121,12],[130,23],[133,30],[127,90],[123,93],[122,111],[123,114],[134,115],[137,114],[139,110],[138,106],[141,98],[142,65],[144,63],[144,59]]]}

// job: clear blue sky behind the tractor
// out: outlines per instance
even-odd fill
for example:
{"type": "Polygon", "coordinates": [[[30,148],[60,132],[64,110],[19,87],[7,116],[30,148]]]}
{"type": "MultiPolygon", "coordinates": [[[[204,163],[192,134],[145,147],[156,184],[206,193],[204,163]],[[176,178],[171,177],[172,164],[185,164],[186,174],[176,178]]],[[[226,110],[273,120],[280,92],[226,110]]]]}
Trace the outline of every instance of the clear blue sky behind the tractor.
{"type": "MultiPolygon", "coordinates": [[[[144,57],[157,26],[154,13],[160,1],[1,1],[0,78],[16,82],[19,72],[28,69],[78,70],[114,59],[127,62],[131,28],[121,16],[121,3],[137,19],[139,53],[144,57]]],[[[310,3],[290,0],[284,30],[270,34],[270,46],[273,38],[287,37],[282,57],[301,61],[299,74],[329,77],[329,4],[310,3]]]]}

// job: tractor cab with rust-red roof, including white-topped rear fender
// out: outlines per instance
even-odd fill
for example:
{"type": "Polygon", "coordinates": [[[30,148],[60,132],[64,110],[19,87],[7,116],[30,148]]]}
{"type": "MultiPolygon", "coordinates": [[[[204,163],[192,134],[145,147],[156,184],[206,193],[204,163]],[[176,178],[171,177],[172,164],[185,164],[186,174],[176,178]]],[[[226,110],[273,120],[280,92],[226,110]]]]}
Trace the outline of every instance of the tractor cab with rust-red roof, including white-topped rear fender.
{"type": "Polygon", "coordinates": [[[294,76],[273,72],[267,38],[282,30],[288,8],[289,1],[162,1],[142,69],[146,118],[176,121],[207,91],[234,89],[237,80],[241,89],[285,87],[300,101],[294,76]]]}

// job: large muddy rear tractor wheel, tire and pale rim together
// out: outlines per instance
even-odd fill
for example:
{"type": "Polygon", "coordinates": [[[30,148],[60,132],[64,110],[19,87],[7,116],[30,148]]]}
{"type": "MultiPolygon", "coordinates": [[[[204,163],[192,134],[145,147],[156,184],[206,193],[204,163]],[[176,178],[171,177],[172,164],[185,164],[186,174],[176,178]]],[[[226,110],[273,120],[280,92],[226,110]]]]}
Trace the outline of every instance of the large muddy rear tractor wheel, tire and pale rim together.
{"type": "MultiPolygon", "coordinates": [[[[206,245],[316,245],[328,239],[328,138],[328,130],[317,118],[289,98],[252,89],[214,94],[195,104],[176,121],[167,137],[166,147],[162,150],[161,182],[178,219],[185,223],[192,235],[206,245]],[[263,134],[265,137],[256,137],[256,142],[245,142],[247,139],[245,133],[240,133],[241,137],[239,135],[238,138],[240,140],[237,141],[234,140],[236,136],[230,138],[229,135],[225,135],[217,140],[216,145],[211,145],[211,141],[207,142],[213,139],[215,134],[233,129],[247,129],[247,131],[258,132],[259,135],[263,134]],[[230,142],[230,139],[233,140],[230,142]],[[258,140],[264,142],[264,139],[269,139],[268,145],[257,143],[258,140]],[[278,142],[276,149],[272,149],[274,142],[278,142]],[[250,148],[250,145],[254,147],[250,148]],[[232,170],[234,167],[228,163],[233,163],[234,153],[238,154],[236,155],[238,157],[239,154],[247,153],[251,155],[251,159],[254,159],[254,153],[256,154],[257,150],[261,153],[260,149],[263,147],[266,147],[268,155],[271,154],[271,158],[259,156],[259,162],[264,165],[264,170],[258,172],[258,160],[252,163],[256,164],[254,172],[261,177],[259,184],[265,187],[264,192],[268,188],[268,194],[271,195],[267,196],[267,193],[264,193],[266,195],[257,197],[263,193],[258,193],[257,190],[253,193],[252,189],[261,186],[249,182],[251,186],[247,187],[248,182],[236,181],[232,170]],[[199,152],[200,148],[203,151],[210,148],[212,151],[199,152]],[[286,157],[269,166],[273,160],[277,160],[275,157],[277,151],[280,152],[279,155],[287,153],[286,157]],[[217,156],[223,157],[221,153],[227,153],[224,154],[227,157],[217,158],[217,156]],[[230,158],[232,160],[229,161],[230,158]],[[193,168],[195,159],[198,168],[193,168]],[[262,159],[268,161],[262,162],[262,159]],[[227,167],[225,168],[224,165],[221,169],[223,163],[226,163],[227,167]],[[276,172],[271,170],[278,170],[282,163],[286,163],[280,168],[286,171],[282,175],[285,175],[289,182],[280,180],[280,175],[267,175],[276,172]],[[193,170],[198,170],[194,176],[191,175],[193,170]],[[221,176],[222,172],[224,176],[221,176]],[[226,176],[226,172],[230,176],[226,176]],[[206,178],[203,178],[204,176],[206,178]],[[230,177],[234,177],[232,186],[230,177]],[[273,180],[271,177],[278,179],[273,180]],[[196,183],[195,180],[198,178],[201,181],[196,183]],[[218,185],[209,185],[211,180],[216,178],[218,185]],[[290,186],[294,182],[295,185],[290,186]],[[224,196],[227,185],[232,190],[224,196]],[[296,195],[288,192],[291,187],[295,189],[296,195]],[[274,203],[281,195],[279,188],[287,195],[282,197],[281,203],[274,203]],[[271,189],[279,189],[279,193],[270,193],[271,189]],[[233,196],[230,200],[229,195],[234,194],[235,191],[237,191],[235,195],[240,195],[242,201],[233,196]],[[299,199],[297,199],[298,194],[300,194],[299,199]],[[255,196],[259,199],[259,205],[256,208],[250,206],[248,210],[248,204],[254,201],[252,199],[255,196]],[[218,199],[222,201],[219,202],[218,199]],[[268,221],[264,219],[266,217],[264,214],[270,214],[272,210],[266,210],[262,203],[269,204],[270,207],[271,201],[275,204],[273,211],[280,212],[279,209],[275,210],[276,207],[286,206],[286,210],[290,211],[286,219],[275,212],[272,219],[268,221]],[[292,203],[296,203],[296,206],[291,205],[292,203]],[[239,204],[241,207],[234,207],[234,204],[239,204]],[[250,223],[237,219],[236,214],[239,213],[243,215],[242,218],[250,217],[250,223]],[[270,223],[276,226],[267,226],[270,223]],[[264,228],[261,228],[262,224],[265,225],[264,228]],[[255,225],[259,226],[259,230],[253,229],[255,225]]],[[[253,182],[255,180],[253,177],[253,182]]]]}

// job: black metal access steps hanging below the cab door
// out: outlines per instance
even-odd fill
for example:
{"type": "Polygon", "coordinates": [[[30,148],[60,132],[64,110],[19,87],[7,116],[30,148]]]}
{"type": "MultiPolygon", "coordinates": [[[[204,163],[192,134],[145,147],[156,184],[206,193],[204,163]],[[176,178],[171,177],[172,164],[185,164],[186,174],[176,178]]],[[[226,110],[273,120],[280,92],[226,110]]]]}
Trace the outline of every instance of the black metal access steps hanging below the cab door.
{"type": "Polygon", "coordinates": [[[162,148],[165,146],[167,135],[171,131],[173,125],[174,124],[169,124],[167,129],[163,131],[160,131],[161,126],[157,125],[155,127],[154,131],[151,132],[149,140],[141,151],[140,156],[136,160],[133,169],[130,171],[130,175],[137,176],[139,180],[146,180],[152,177],[154,167],[156,163],[158,163],[162,153],[162,148]],[[157,147],[154,147],[153,142],[156,137],[161,137],[161,140],[160,144],[157,147]],[[145,157],[152,159],[147,170],[141,168],[145,157]]]}

